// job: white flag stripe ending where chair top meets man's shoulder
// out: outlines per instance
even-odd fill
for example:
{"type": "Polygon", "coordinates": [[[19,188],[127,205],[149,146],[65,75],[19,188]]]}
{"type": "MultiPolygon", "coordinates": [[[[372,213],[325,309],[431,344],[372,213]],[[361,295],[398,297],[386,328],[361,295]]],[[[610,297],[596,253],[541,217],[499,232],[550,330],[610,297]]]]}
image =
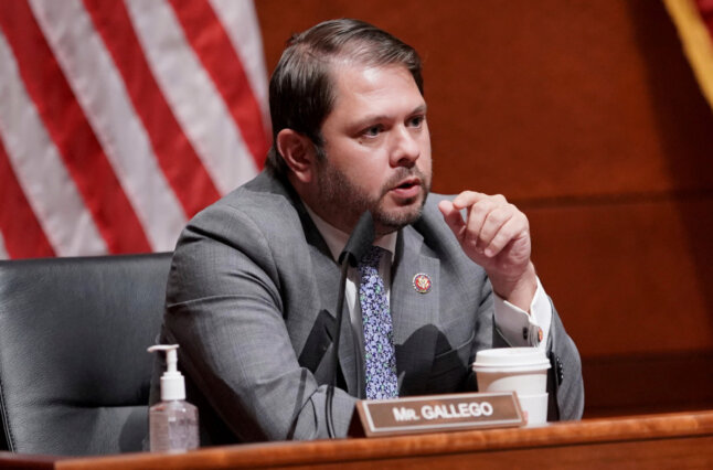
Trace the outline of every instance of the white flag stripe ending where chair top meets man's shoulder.
{"type": "MultiPolygon", "coordinates": [[[[33,1],[31,6],[151,246],[170,246],[190,212],[183,211],[171,194],[166,169],[160,171],[147,136],[150,127],[142,126],[139,119],[141,107],[134,113],[125,82],[94,30],[89,14],[79,0],[33,1]],[[73,24],[73,28],[67,29],[66,24],[73,24]],[[105,104],[107,96],[113,97],[111,107],[105,104]]],[[[140,53],[140,50],[135,52],[140,53]]],[[[135,62],[139,62],[138,57],[135,62]]],[[[126,85],[136,87],[134,84],[143,83],[143,78],[127,81],[126,85]]],[[[150,103],[151,95],[145,98],[150,103]]],[[[168,115],[171,116],[170,111],[168,115]]],[[[198,167],[202,170],[200,163],[198,167]]],[[[203,202],[213,201],[216,194],[213,189],[203,202]]],[[[201,207],[195,204],[193,213],[201,207]]]]}

